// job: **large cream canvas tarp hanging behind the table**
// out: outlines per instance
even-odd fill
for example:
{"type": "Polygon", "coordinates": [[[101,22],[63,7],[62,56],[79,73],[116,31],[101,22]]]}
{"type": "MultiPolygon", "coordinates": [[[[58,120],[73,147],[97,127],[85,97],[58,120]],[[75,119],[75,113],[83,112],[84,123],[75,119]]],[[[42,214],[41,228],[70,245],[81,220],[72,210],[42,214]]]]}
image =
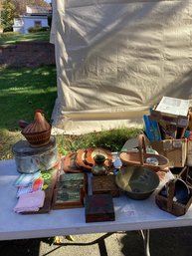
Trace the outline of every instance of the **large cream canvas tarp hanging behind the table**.
{"type": "Polygon", "coordinates": [[[51,42],[65,133],[142,126],[163,96],[192,98],[192,1],[55,0],[51,42]]]}

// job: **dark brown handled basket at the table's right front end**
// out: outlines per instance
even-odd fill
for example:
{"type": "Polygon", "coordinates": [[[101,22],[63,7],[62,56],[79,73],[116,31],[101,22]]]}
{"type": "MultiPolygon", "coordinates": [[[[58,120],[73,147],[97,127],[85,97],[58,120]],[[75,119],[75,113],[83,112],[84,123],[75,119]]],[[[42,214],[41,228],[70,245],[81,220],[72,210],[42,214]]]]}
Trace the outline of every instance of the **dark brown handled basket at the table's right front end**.
{"type": "Polygon", "coordinates": [[[188,201],[185,204],[179,203],[177,201],[173,200],[174,197],[174,180],[170,181],[169,183],[169,195],[164,196],[162,195],[162,190],[165,189],[165,187],[162,187],[162,189],[158,192],[158,194],[155,196],[155,201],[158,207],[161,210],[167,211],[175,216],[181,216],[184,215],[192,203],[192,186],[189,185],[187,182],[187,176],[188,176],[189,167],[185,166],[181,172],[178,175],[178,178],[181,178],[186,182],[186,184],[189,187],[190,190],[190,196],[188,201]]]}

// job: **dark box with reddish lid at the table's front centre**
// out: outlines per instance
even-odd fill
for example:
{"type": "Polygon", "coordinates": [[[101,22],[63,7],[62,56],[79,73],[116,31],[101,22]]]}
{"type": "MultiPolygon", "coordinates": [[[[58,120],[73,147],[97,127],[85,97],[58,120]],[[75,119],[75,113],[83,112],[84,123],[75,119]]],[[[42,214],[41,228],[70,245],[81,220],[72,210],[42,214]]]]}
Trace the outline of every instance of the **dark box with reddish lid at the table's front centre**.
{"type": "Polygon", "coordinates": [[[111,194],[88,195],[85,202],[85,213],[86,222],[115,220],[111,194]]]}

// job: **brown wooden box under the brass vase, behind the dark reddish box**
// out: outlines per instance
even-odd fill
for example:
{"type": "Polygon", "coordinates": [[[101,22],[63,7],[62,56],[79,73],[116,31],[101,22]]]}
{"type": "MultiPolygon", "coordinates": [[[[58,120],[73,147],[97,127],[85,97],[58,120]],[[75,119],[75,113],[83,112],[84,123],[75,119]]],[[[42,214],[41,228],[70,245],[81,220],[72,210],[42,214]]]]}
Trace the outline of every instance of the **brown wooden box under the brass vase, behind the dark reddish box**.
{"type": "Polygon", "coordinates": [[[112,197],[119,196],[119,188],[115,183],[115,175],[100,175],[92,177],[93,194],[110,193],[112,197]]]}

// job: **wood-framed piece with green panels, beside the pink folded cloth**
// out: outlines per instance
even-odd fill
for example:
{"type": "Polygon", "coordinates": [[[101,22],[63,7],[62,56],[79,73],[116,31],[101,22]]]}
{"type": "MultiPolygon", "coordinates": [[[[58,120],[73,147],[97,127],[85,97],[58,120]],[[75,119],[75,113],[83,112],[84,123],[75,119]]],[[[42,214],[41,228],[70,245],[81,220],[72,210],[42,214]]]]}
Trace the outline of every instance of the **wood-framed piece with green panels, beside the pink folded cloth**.
{"type": "Polygon", "coordinates": [[[88,192],[86,173],[62,174],[56,183],[53,209],[84,207],[84,198],[88,192]]]}

